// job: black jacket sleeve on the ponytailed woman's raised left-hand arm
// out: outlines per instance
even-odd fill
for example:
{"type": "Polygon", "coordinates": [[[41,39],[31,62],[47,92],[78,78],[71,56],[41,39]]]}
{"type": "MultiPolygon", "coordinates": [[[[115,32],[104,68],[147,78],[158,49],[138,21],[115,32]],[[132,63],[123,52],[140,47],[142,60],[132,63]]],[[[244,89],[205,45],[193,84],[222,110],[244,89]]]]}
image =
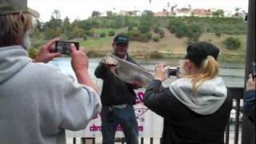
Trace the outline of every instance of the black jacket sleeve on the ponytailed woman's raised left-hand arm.
{"type": "Polygon", "coordinates": [[[162,82],[158,80],[153,80],[150,86],[147,87],[144,104],[156,114],[167,119],[175,110],[173,94],[169,88],[163,88],[162,82]]]}

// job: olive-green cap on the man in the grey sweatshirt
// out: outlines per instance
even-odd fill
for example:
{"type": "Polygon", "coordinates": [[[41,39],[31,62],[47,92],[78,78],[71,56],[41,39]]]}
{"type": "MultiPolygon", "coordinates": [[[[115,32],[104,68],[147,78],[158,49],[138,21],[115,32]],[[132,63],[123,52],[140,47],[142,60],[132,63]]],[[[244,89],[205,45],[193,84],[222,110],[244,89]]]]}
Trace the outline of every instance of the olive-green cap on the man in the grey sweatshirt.
{"type": "Polygon", "coordinates": [[[39,18],[38,11],[27,7],[27,0],[0,0],[0,15],[29,13],[35,18],[39,18]]]}

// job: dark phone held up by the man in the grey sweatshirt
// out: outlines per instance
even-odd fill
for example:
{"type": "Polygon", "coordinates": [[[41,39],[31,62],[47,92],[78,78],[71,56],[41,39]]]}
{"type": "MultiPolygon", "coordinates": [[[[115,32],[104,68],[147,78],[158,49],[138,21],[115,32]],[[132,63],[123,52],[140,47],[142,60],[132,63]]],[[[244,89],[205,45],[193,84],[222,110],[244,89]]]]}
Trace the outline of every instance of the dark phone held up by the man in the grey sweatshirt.
{"type": "Polygon", "coordinates": [[[55,46],[55,52],[61,53],[61,54],[70,54],[70,45],[71,43],[74,43],[75,47],[78,50],[78,42],[56,42],[55,46]]]}

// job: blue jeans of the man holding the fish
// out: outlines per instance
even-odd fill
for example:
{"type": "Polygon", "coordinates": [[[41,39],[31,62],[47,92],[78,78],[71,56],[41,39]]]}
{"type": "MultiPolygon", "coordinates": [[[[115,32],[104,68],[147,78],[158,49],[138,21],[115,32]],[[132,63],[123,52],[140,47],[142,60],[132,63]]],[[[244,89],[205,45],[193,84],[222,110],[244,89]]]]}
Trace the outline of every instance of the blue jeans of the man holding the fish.
{"type": "Polygon", "coordinates": [[[102,144],[114,144],[114,135],[118,124],[126,137],[127,144],[138,144],[138,122],[134,113],[134,106],[127,105],[125,108],[112,108],[114,110],[114,119],[109,120],[110,106],[102,106],[102,144]]]}

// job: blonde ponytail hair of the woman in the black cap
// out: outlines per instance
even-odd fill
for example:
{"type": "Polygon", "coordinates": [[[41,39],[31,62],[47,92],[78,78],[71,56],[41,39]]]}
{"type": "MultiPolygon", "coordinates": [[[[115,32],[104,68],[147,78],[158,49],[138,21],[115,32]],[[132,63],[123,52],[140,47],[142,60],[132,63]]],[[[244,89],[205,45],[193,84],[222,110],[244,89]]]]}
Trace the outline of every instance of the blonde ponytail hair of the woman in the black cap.
{"type": "Polygon", "coordinates": [[[198,69],[198,73],[185,76],[186,78],[192,78],[193,92],[196,92],[203,82],[218,75],[218,63],[214,57],[207,56],[198,69]]]}

